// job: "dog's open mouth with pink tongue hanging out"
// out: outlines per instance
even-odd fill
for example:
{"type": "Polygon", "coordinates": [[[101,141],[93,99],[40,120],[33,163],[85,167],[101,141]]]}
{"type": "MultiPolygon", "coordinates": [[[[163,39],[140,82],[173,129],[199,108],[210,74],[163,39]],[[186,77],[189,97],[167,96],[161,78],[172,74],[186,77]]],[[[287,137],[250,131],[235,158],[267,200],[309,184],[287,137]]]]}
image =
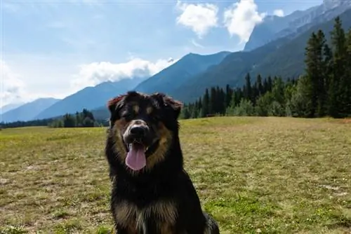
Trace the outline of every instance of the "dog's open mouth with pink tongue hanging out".
{"type": "Polygon", "coordinates": [[[142,141],[134,140],[130,144],[125,144],[127,155],[126,165],[131,170],[142,170],[146,166],[147,158],[156,151],[159,146],[159,139],[155,139],[150,146],[146,146],[142,141]]]}

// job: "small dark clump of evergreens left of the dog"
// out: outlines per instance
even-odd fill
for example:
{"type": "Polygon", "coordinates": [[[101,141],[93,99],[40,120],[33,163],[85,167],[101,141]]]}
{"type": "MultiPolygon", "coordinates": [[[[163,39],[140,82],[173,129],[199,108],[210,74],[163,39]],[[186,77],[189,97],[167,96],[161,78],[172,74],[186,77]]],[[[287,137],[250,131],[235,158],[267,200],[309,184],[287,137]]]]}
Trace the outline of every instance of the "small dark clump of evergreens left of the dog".
{"type": "Polygon", "coordinates": [[[102,125],[102,122],[95,120],[93,113],[87,109],[83,109],[80,113],[77,111],[75,114],[66,113],[62,118],[55,119],[51,123],[48,123],[48,126],[51,128],[88,128],[100,127],[102,125]]]}

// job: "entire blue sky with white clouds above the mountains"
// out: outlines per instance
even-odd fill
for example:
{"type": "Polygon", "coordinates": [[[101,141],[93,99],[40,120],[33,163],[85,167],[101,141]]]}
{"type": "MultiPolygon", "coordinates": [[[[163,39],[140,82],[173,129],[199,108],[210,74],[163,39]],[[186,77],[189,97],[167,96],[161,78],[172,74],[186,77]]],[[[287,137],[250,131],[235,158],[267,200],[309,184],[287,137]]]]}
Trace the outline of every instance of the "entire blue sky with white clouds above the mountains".
{"type": "Polygon", "coordinates": [[[266,15],[322,0],[0,0],[0,106],[152,76],[187,53],[242,50],[266,15]],[[142,71],[142,72],[140,72],[142,71]]]}

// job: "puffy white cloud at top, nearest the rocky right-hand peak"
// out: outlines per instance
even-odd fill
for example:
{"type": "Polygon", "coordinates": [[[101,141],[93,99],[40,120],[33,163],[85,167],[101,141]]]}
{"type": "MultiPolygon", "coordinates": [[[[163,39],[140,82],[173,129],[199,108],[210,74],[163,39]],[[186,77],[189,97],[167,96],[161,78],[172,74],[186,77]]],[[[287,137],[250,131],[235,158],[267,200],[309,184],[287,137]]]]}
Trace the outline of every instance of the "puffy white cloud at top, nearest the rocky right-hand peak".
{"type": "Polygon", "coordinates": [[[249,41],[255,25],[265,18],[266,13],[258,13],[257,5],[253,0],[239,0],[225,9],[224,23],[230,36],[237,35],[240,43],[249,41]]]}

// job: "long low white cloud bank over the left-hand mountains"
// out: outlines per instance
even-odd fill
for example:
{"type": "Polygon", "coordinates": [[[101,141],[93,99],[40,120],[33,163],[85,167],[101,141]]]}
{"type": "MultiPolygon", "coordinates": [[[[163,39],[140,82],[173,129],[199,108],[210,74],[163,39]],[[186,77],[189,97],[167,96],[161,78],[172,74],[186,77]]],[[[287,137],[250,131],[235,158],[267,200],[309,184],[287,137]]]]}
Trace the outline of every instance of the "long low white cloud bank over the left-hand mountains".
{"type": "Polygon", "coordinates": [[[1,63],[0,106],[39,97],[64,98],[87,86],[123,78],[152,76],[178,60],[150,62],[132,57],[124,63],[88,62],[81,57],[8,55],[1,63]],[[75,66],[74,64],[83,64],[75,66]]]}

